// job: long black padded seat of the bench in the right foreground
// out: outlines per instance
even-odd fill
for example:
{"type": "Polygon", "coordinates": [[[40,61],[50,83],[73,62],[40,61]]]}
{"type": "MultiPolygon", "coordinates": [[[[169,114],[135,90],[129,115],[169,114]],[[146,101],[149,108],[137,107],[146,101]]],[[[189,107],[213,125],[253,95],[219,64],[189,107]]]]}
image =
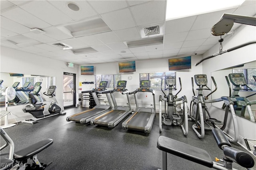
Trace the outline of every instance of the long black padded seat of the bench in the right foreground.
{"type": "MultiPolygon", "coordinates": [[[[168,137],[160,136],[157,141],[157,148],[170,153],[181,158],[196,162],[198,164],[207,166],[209,168],[213,167],[212,158],[203,149],[193,147],[186,143],[170,139],[168,137]]],[[[167,160],[162,160],[167,161],[167,160]]]]}

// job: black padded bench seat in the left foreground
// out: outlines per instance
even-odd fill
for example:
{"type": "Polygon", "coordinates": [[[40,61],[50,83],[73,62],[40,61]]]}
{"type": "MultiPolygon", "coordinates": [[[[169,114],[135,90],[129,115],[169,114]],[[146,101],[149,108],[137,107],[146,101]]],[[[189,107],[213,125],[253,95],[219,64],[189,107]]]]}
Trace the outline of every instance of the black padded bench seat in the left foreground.
{"type": "Polygon", "coordinates": [[[13,154],[13,158],[18,161],[27,160],[28,158],[31,158],[32,156],[46,149],[48,146],[52,145],[52,143],[52,139],[45,139],[43,141],[30,145],[29,147],[18,150],[13,154]]]}

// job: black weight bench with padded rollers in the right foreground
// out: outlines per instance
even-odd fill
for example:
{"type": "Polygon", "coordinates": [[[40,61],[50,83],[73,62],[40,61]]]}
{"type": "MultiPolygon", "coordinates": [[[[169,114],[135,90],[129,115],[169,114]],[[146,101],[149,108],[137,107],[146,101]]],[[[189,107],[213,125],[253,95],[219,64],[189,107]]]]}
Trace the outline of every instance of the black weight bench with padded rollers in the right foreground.
{"type": "Polygon", "coordinates": [[[203,149],[160,136],[157,141],[157,148],[162,150],[162,170],[167,170],[167,152],[214,169],[232,169],[232,162],[236,162],[245,168],[254,166],[252,156],[244,151],[232,148],[221,129],[212,129],[212,134],[218,147],[223,150],[225,155],[223,160],[220,160],[224,162],[223,165],[213,162],[208,152],[203,149]]]}

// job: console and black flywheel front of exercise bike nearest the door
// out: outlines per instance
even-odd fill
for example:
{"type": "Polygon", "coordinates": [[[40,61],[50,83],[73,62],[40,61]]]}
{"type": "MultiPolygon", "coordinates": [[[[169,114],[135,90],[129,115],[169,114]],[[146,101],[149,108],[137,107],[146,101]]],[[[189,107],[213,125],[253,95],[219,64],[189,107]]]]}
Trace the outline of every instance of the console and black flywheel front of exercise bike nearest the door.
{"type": "Polygon", "coordinates": [[[46,94],[46,92],[44,92],[44,95],[50,96],[54,100],[54,101],[51,102],[51,104],[48,108],[48,111],[49,111],[50,114],[65,115],[66,112],[61,111],[61,107],[60,107],[60,105],[58,104],[58,102],[56,100],[56,97],[55,97],[55,94],[54,94],[55,90],[56,90],[56,86],[50,86],[48,88],[47,94],[46,94]]]}

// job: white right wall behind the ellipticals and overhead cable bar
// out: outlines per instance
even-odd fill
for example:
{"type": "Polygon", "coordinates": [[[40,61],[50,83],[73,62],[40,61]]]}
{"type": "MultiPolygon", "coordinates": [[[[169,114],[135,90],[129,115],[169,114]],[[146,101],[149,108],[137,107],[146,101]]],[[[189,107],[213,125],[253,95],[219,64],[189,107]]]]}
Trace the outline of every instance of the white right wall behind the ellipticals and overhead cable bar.
{"type": "MultiPolygon", "coordinates": [[[[247,43],[250,41],[256,41],[256,27],[251,25],[242,25],[236,31],[234,31],[233,35],[227,35],[223,41],[223,51],[226,49],[241,45],[243,43],[247,43]]],[[[215,53],[219,53],[219,44],[215,45],[212,49],[207,51],[203,57],[208,57],[215,53]]],[[[211,73],[216,70],[221,70],[224,68],[240,65],[242,63],[248,63],[256,60],[256,44],[248,45],[246,47],[242,47],[240,49],[224,53],[222,55],[218,55],[214,58],[208,59],[201,63],[202,72],[207,74],[207,76],[211,76],[211,73]]],[[[223,75],[227,76],[227,75],[223,75]]],[[[223,86],[226,86],[223,85],[223,86]]],[[[222,88],[222,85],[219,85],[218,88],[222,88]]],[[[219,120],[223,120],[224,110],[219,109],[214,106],[208,106],[212,117],[217,118],[219,120]]],[[[239,136],[240,143],[244,145],[243,138],[246,137],[248,139],[256,139],[256,123],[249,121],[248,119],[244,119],[242,117],[236,117],[239,126],[239,136]]],[[[229,122],[231,122],[231,118],[229,117],[229,122]]],[[[230,123],[226,129],[226,132],[234,137],[234,128],[232,123],[230,123]]],[[[254,144],[255,145],[255,144],[254,144]]],[[[245,145],[244,145],[245,146],[245,145]]]]}

